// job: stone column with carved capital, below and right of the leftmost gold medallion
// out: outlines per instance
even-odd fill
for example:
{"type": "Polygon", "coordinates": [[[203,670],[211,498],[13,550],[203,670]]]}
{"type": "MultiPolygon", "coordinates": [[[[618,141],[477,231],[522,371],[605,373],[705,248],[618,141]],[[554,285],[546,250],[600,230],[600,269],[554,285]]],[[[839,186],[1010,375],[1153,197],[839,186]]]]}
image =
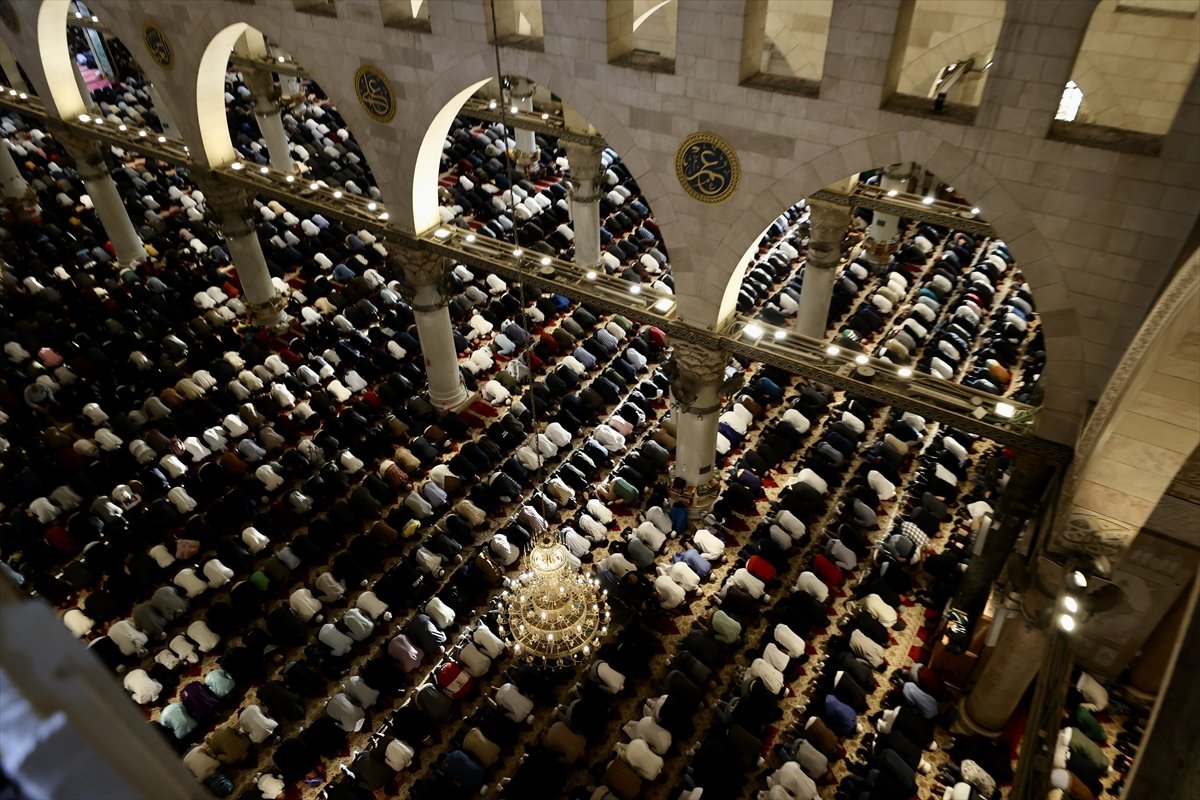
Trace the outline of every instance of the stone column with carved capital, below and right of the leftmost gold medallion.
{"type": "MultiPolygon", "coordinates": [[[[197,178],[196,172],[193,178],[197,178]]],[[[264,327],[284,326],[288,315],[283,312],[283,297],[275,290],[263,246],[258,241],[252,198],[244,188],[215,174],[203,179],[200,188],[206,205],[216,212],[217,227],[238,270],[248,321],[264,327]]]]}

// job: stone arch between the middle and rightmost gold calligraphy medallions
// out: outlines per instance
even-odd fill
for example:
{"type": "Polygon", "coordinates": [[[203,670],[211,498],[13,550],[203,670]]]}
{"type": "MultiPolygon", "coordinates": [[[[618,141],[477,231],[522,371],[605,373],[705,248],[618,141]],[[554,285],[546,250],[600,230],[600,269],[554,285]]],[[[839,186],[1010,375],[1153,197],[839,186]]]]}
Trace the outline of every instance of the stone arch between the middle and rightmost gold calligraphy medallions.
{"type": "MultiPolygon", "coordinates": [[[[670,213],[671,200],[656,191],[656,184],[642,184],[642,176],[652,173],[650,158],[641,150],[624,125],[608,110],[606,98],[598,97],[582,83],[563,74],[550,59],[529,50],[505,50],[504,71],[528,78],[545,86],[568,102],[588,121],[613,150],[620,154],[642,187],[655,218],[670,213]],[[661,210],[660,210],[661,209],[661,210]]],[[[407,149],[412,158],[406,163],[406,173],[412,180],[412,192],[398,198],[392,223],[422,231],[437,223],[438,155],[454,116],[462,103],[487,80],[496,77],[496,60],[490,49],[478,50],[473,56],[445,70],[419,100],[413,103],[407,149]],[[464,89],[466,88],[466,89],[464,89]],[[401,204],[407,201],[407,204],[401,204]],[[406,207],[407,206],[407,207],[406,207]]],[[[667,242],[670,245],[670,242],[667,242]]]]}

